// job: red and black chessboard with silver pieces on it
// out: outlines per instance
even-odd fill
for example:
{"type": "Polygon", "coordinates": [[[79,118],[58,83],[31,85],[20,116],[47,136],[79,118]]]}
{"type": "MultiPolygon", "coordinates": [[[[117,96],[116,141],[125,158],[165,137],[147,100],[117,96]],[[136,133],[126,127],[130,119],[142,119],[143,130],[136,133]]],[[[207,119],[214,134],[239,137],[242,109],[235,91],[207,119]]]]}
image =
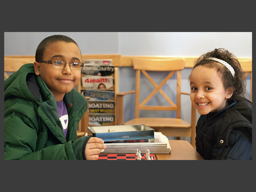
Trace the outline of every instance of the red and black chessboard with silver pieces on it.
{"type": "Polygon", "coordinates": [[[148,149],[145,152],[145,154],[141,154],[137,149],[136,153],[101,153],[98,160],[157,160],[156,155],[150,154],[148,149]]]}

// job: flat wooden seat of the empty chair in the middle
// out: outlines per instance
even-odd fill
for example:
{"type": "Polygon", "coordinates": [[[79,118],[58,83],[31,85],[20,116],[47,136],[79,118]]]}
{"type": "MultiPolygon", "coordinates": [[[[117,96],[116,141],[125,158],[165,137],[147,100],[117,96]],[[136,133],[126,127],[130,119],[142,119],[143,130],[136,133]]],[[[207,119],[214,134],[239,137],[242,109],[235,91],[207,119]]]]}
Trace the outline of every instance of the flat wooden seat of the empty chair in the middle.
{"type": "Polygon", "coordinates": [[[182,120],[176,118],[150,118],[141,117],[135,118],[124,123],[125,125],[143,124],[151,127],[155,132],[162,132],[168,137],[190,137],[191,125],[182,120]]]}

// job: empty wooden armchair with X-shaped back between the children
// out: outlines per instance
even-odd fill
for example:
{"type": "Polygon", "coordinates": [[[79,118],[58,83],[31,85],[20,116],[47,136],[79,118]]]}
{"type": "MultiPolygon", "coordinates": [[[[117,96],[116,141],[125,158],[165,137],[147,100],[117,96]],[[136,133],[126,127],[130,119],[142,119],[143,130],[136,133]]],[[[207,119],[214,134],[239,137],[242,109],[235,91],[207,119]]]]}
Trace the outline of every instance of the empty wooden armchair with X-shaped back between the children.
{"type": "Polygon", "coordinates": [[[191,123],[188,123],[180,118],[181,94],[189,95],[189,93],[181,92],[181,70],[184,69],[184,59],[154,59],[154,58],[133,58],[133,68],[136,70],[135,91],[117,93],[118,106],[118,122],[117,124],[145,124],[154,128],[156,132],[162,132],[165,136],[172,137],[191,137],[191,144],[195,148],[196,138],[196,108],[192,106],[191,123]],[[148,74],[148,71],[162,71],[169,73],[166,78],[157,85],[155,81],[148,74]],[[153,84],[155,90],[151,92],[148,97],[140,102],[140,75],[144,74],[149,82],[153,84]],[[176,104],[162,91],[162,86],[176,73],[177,90],[174,92],[177,95],[176,104]],[[160,92],[161,95],[168,101],[169,106],[146,106],[145,104],[156,94],[160,92]],[[123,97],[124,95],[135,93],[135,118],[124,123],[124,109],[123,97]],[[140,117],[140,110],[154,110],[154,111],[176,111],[176,118],[161,118],[161,117],[140,117]]]}

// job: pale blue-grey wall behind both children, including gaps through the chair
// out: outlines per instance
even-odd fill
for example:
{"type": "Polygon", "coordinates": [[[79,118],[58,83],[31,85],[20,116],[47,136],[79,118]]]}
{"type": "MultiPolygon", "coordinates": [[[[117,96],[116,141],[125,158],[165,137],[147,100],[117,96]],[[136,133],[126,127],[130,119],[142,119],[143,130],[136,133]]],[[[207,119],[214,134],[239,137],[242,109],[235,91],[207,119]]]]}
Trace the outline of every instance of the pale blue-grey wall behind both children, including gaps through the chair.
{"type": "MultiPolygon", "coordinates": [[[[252,32],[4,32],[4,55],[34,55],[37,45],[45,37],[53,34],[73,38],[82,54],[200,56],[221,47],[228,49],[237,57],[252,57],[252,32]]],[[[188,68],[182,71],[182,92],[190,92],[188,83],[190,72],[191,69],[188,68]]],[[[157,74],[153,76],[157,77],[157,74]]],[[[134,90],[134,79],[135,73],[131,67],[120,68],[119,92],[134,90]]],[[[249,77],[247,82],[249,90],[249,77]]],[[[164,91],[175,96],[175,93],[169,92],[170,86],[172,80],[167,82],[164,91]]],[[[152,88],[148,87],[148,89],[152,88]]],[[[181,118],[189,122],[191,119],[189,96],[182,96],[181,101],[181,118]]],[[[157,96],[151,104],[159,102],[164,102],[161,96],[157,96]]],[[[133,95],[124,98],[124,115],[124,121],[134,117],[133,95]]],[[[155,114],[142,113],[142,116],[146,115],[155,114]]],[[[157,115],[170,116],[166,112],[157,115]]]]}

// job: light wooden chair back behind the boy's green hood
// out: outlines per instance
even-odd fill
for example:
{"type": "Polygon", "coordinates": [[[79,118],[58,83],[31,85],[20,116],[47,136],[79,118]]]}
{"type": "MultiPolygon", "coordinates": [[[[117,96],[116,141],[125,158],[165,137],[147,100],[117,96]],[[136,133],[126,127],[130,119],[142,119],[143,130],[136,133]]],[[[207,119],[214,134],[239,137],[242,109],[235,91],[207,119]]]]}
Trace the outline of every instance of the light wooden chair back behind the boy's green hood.
{"type": "Polygon", "coordinates": [[[7,79],[9,75],[6,72],[15,72],[22,65],[26,63],[34,63],[35,56],[4,56],[4,78],[7,79]]]}

